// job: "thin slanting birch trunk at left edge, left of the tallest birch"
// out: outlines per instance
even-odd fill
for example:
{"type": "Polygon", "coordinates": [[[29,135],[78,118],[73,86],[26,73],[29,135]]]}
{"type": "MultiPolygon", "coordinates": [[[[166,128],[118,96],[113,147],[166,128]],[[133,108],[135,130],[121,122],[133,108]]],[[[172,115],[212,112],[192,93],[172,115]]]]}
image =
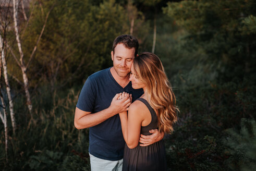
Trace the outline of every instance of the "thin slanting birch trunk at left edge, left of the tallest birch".
{"type": "Polygon", "coordinates": [[[10,93],[10,84],[9,84],[8,75],[7,75],[7,65],[6,65],[5,53],[4,53],[4,41],[3,41],[1,35],[0,35],[0,45],[1,45],[0,50],[2,52],[1,53],[2,67],[3,67],[3,70],[4,70],[4,79],[5,79],[5,84],[6,84],[6,91],[7,91],[7,95],[8,95],[8,100],[9,100],[11,125],[13,126],[13,132],[15,133],[16,121],[15,121],[15,114],[14,114],[13,98],[11,97],[11,93],[10,93]]]}

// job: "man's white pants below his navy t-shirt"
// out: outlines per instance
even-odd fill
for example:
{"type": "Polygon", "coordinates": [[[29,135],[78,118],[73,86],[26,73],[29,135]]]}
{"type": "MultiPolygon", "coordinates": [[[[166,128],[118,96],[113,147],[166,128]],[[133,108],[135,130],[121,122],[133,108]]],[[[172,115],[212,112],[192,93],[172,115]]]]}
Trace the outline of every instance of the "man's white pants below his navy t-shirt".
{"type": "Polygon", "coordinates": [[[90,155],[91,171],[121,171],[123,168],[123,158],[119,161],[104,160],[90,155]]]}

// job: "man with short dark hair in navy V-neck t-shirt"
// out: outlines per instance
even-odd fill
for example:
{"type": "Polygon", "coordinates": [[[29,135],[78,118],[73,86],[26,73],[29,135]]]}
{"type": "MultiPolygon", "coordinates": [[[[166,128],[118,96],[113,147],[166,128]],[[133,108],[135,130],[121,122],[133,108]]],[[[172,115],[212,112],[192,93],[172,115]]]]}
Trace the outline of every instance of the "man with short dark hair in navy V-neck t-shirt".
{"type": "MultiPolygon", "coordinates": [[[[138,53],[138,40],[131,35],[120,35],[111,52],[113,67],[88,77],[81,90],[74,124],[77,129],[89,128],[89,154],[91,170],[121,170],[125,141],[121,131],[120,112],[127,111],[131,104],[129,95],[118,100],[118,94],[132,94],[138,99],[143,90],[135,90],[129,81],[131,64],[138,53]],[[113,98],[114,97],[114,98],[113,98]]],[[[151,130],[150,136],[140,137],[142,146],[163,139],[163,133],[151,130]]]]}

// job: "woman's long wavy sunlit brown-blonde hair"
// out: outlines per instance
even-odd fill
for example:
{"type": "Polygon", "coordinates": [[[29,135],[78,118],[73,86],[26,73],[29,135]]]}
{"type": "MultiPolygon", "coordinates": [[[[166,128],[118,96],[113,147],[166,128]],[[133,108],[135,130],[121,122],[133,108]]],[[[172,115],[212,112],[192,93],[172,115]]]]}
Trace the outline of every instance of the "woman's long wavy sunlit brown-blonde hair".
{"type": "Polygon", "coordinates": [[[159,130],[172,133],[179,109],[161,60],[153,53],[144,52],[135,57],[133,67],[137,78],[147,87],[145,93],[149,104],[156,109],[159,130]]]}

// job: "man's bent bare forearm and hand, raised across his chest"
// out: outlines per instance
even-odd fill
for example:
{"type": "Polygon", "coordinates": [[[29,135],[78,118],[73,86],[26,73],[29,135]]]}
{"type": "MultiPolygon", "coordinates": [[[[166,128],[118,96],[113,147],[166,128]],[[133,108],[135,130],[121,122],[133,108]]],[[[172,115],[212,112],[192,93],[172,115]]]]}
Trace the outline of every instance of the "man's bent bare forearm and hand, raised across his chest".
{"type": "Polygon", "coordinates": [[[105,121],[106,119],[120,113],[123,111],[127,111],[129,107],[130,99],[129,96],[124,97],[124,99],[118,100],[118,97],[121,93],[118,93],[114,96],[111,105],[97,113],[91,113],[82,111],[81,109],[76,107],[74,125],[77,129],[89,128],[95,125],[98,125],[105,121]]]}

